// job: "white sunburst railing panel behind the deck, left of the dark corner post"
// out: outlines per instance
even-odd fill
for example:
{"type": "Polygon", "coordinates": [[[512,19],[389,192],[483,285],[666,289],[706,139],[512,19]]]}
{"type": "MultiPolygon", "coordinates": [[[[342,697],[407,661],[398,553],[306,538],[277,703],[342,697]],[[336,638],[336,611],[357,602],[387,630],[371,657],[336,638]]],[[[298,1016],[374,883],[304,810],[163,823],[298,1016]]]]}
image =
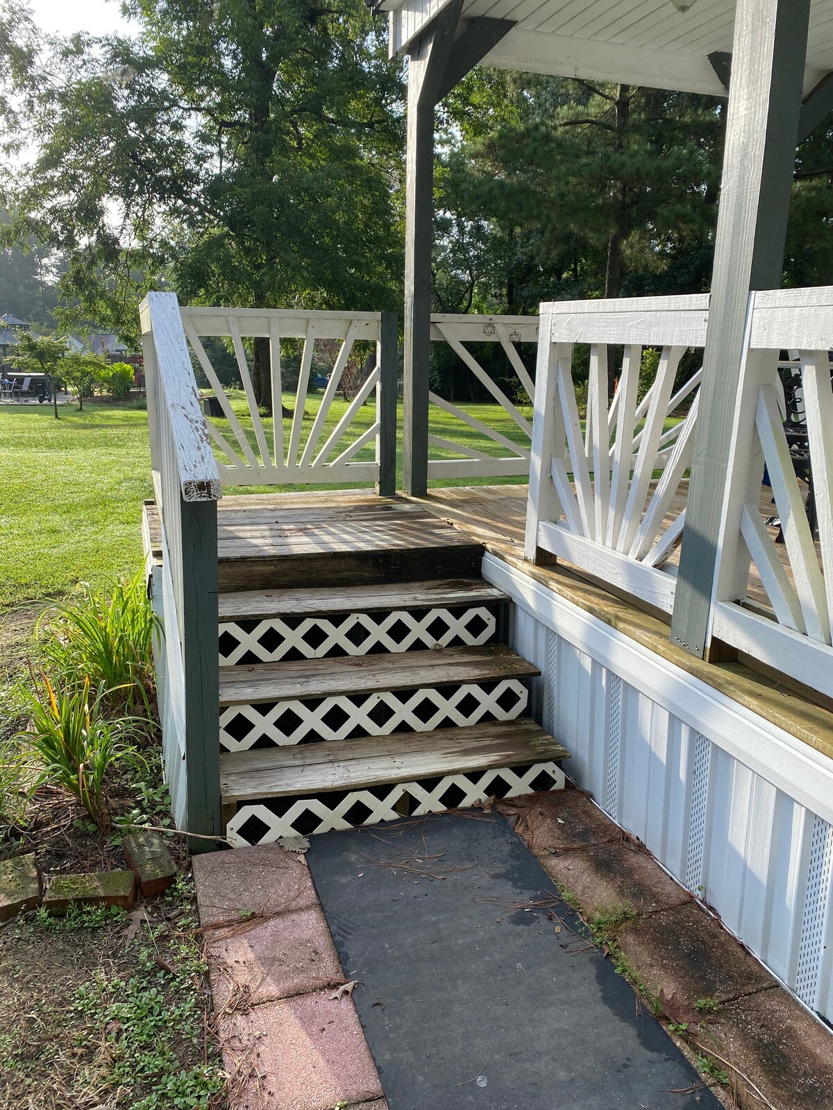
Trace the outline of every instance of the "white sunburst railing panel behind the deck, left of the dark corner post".
{"type": "MultiPolygon", "coordinates": [[[[397,317],[380,312],[303,312],[293,310],[183,307],[190,347],[222,412],[209,417],[208,434],[217,447],[220,480],[227,485],[374,482],[380,493],[395,490],[397,317]],[[209,357],[203,340],[227,340],[233,350],[245,397],[235,411],[209,357]],[[261,416],[252,382],[247,341],[269,342],[273,398],[271,430],[261,416]],[[303,341],[291,416],[282,413],[288,341],[303,341]],[[334,342],[333,342],[334,341],[334,342]],[[375,361],[359,377],[352,396],[335,416],[334,402],[359,341],[375,343],[375,361]],[[318,346],[317,346],[318,345],[318,346]],[[329,352],[322,346],[337,347],[329,352]],[[320,398],[312,379],[315,356],[323,359],[327,384],[320,398]],[[370,421],[365,402],[375,401],[370,421]],[[367,426],[355,428],[355,424],[367,426]],[[357,458],[361,453],[369,458],[357,458]]],[[[358,367],[354,367],[358,369],[358,367]]]]}

